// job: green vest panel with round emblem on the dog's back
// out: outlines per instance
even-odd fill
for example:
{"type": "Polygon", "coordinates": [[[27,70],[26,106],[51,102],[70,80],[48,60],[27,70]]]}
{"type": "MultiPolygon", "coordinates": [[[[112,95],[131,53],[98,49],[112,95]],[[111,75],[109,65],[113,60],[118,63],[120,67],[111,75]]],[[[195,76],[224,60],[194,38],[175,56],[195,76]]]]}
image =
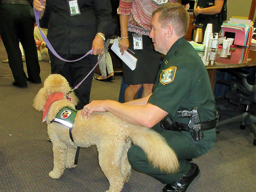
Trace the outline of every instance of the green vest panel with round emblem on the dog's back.
{"type": "Polygon", "coordinates": [[[70,108],[69,106],[65,106],[65,108],[62,108],[51,122],[56,122],[72,128],[77,111],[78,110],[70,108]]]}

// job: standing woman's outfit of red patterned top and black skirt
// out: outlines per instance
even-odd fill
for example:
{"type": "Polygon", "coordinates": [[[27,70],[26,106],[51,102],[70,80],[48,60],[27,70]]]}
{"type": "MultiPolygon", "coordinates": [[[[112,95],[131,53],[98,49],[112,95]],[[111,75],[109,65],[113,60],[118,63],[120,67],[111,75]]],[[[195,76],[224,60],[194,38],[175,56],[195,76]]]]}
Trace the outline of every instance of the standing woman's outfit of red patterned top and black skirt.
{"type": "Polygon", "coordinates": [[[161,54],[154,50],[152,39],[149,38],[151,31],[152,13],[166,3],[175,3],[175,0],[120,0],[118,14],[129,15],[127,24],[129,36],[129,49],[138,59],[134,71],[124,63],[123,78],[126,84],[153,84],[159,71],[161,54]],[[133,34],[142,34],[143,49],[133,49],[133,34]]]}

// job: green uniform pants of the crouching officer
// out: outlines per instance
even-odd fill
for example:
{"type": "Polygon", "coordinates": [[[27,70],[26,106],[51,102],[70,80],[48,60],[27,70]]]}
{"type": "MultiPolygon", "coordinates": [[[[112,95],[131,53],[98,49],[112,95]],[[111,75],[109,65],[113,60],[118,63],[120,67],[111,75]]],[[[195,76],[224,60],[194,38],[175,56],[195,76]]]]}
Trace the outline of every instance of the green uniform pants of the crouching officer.
{"type": "Polygon", "coordinates": [[[129,149],[128,159],[135,170],[149,175],[163,184],[173,183],[185,175],[190,169],[190,162],[186,159],[197,158],[207,153],[214,146],[216,139],[216,129],[204,131],[204,138],[200,141],[194,141],[189,132],[163,130],[159,123],[153,129],[160,133],[175,151],[180,165],[178,172],[168,175],[161,172],[160,169],[154,168],[148,162],[144,151],[136,145],[132,145],[129,149]]]}

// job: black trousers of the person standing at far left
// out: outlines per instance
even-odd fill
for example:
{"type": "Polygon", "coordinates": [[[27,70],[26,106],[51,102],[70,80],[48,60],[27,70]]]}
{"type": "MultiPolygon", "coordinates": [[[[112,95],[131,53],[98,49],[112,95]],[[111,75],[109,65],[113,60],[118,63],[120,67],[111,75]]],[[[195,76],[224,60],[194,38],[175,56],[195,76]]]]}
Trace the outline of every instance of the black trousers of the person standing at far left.
{"type": "Polygon", "coordinates": [[[27,85],[27,75],[24,72],[19,41],[25,51],[28,77],[34,82],[41,80],[31,9],[32,7],[28,5],[0,4],[0,34],[14,80],[19,86],[27,85]]]}

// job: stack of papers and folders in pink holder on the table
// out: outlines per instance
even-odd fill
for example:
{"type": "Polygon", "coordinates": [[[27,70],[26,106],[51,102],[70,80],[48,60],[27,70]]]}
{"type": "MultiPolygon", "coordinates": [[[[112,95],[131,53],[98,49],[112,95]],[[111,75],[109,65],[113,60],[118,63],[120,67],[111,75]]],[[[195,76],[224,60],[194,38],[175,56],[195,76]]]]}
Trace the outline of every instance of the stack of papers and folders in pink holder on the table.
{"type": "Polygon", "coordinates": [[[253,22],[249,19],[230,18],[222,24],[222,36],[234,35],[234,45],[249,46],[254,31],[253,22]]]}

